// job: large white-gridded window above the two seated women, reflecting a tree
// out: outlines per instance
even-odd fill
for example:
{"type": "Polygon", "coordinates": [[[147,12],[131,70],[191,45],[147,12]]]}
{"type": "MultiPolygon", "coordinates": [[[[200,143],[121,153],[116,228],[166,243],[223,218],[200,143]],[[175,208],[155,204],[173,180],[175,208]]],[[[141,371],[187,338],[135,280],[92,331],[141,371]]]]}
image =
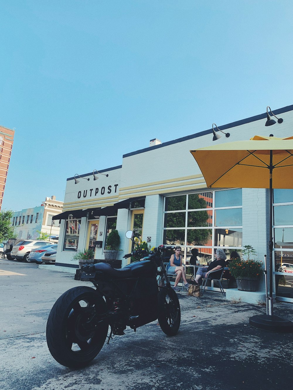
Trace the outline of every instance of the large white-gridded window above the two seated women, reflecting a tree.
{"type": "Polygon", "coordinates": [[[201,264],[215,248],[242,247],[242,189],[205,191],[165,198],[163,244],[180,245],[184,261],[197,248],[201,264]]]}

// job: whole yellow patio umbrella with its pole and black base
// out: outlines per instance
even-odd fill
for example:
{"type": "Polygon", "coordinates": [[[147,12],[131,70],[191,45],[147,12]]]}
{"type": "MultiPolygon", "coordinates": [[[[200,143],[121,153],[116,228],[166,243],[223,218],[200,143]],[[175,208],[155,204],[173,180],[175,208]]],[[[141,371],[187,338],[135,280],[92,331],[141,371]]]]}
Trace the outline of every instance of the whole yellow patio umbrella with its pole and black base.
{"type": "MultiPolygon", "coordinates": [[[[293,323],[273,316],[273,188],[293,188],[293,137],[256,135],[247,141],[227,142],[190,151],[202,171],[207,187],[269,188],[270,266],[269,295],[266,283],[266,316],[250,318],[250,324],[273,332],[293,332],[293,323]]],[[[265,271],[266,273],[266,271],[265,271]]]]}

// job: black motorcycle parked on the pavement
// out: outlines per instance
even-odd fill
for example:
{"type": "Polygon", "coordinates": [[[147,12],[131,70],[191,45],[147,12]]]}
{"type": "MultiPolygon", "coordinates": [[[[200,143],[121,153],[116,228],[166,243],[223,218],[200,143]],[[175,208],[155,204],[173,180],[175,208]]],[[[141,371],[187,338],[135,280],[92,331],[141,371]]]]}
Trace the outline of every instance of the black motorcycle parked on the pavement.
{"type": "MultiPolygon", "coordinates": [[[[180,304],[163,264],[165,252],[172,248],[160,245],[147,259],[122,269],[107,263],[85,264],[78,269],[75,280],[89,280],[95,289],[73,287],[52,307],[46,339],[54,359],[66,367],[86,366],[102,349],[109,325],[108,343],[114,335],[124,335],[127,326],[136,332],[156,319],[166,335],[176,335],[180,304]]],[[[146,254],[137,250],[123,257],[138,259],[146,254]]]]}

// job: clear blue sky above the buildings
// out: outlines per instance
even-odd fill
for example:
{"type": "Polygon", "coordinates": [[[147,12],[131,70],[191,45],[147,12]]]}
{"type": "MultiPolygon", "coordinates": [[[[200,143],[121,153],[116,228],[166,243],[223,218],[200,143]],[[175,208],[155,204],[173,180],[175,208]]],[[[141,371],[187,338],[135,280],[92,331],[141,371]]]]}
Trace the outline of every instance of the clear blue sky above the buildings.
{"type": "MultiPolygon", "coordinates": [[[[3,208],[66,178],[292,104],[293,5],[263,0],[2,0],[3,208]]],[[[190,145],[191,149],[196,145],[190,145]]]]}

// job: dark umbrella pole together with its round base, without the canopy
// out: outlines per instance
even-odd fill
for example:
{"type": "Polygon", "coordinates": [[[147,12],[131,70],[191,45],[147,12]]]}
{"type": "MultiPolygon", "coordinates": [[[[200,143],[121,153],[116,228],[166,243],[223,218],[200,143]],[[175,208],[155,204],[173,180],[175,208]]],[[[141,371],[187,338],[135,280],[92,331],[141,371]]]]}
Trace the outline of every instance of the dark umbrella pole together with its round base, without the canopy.
{"type": "MultiPolygon", "coordinates": [[[[266,314],[252,316],[249,324],[254,328],[268,330],[270,332],[292,333],[293,322],[279,316],[273,315],[273,152],[270,151],[270,188],[269,188],[269,207],[270,207],[270,241],[268,242],[270,250],[270,263],[268,273],[269,294],[267,294],[266,280],[266,314]],[[268,296],[269,295],[269,296],[268,296]]],[[[265,266],[266,268],[266,266],[265,266]]],[[[266,273],[265,269],[265,273],[266,273]]],[[[265,278],[266,279],[266,278],[265,278]]]]}

